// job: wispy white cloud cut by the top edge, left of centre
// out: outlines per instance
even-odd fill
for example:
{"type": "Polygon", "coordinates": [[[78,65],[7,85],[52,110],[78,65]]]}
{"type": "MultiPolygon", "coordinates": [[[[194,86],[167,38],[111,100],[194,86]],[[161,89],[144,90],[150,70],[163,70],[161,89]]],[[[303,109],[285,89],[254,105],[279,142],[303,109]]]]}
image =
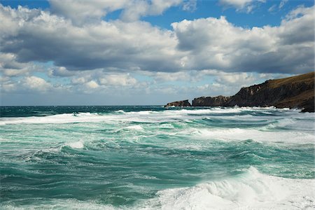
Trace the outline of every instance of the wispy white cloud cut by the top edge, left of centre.
{"type": "Polygon", "coordinates": [[[50,0],[52,13],[70,19],[75,25],[99,22],[115,10],[122,10],[121,20],[133,22],[142,16],[161,15],[182,0],[50,0]]]}

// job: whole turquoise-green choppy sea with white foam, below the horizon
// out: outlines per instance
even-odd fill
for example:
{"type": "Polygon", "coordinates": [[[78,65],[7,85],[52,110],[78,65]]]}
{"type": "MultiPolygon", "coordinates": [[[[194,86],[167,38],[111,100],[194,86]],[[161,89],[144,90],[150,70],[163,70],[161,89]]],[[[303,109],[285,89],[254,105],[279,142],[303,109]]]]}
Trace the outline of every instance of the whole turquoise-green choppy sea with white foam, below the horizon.
{"type": "Polygon", "coordinates": [[[0,109],[0,209],[315,209],[314,113],[0,109]]]}

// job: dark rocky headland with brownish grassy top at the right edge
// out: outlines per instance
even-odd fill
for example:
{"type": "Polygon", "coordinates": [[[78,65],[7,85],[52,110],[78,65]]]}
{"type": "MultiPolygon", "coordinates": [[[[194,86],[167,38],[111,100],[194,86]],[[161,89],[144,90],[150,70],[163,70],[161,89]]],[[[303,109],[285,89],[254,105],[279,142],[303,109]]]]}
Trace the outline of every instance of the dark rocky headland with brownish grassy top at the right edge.
{"type": "MultiPolygon", "coordinates": [[[[314,72],[241,87],[231,97],[198,97],[193,106],[276,106],[314,112],[314,72]]],[[[174,105],[175,106],[175,105],[174,105]]]]}

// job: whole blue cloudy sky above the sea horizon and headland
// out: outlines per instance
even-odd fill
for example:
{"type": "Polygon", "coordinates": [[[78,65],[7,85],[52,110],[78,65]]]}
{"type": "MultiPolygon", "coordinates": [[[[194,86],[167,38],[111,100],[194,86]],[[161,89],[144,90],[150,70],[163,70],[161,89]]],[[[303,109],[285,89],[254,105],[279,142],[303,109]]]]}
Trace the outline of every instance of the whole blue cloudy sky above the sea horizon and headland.
{"type": "Polygon", "coordinates": [[[0,0],[1,106],[163,105],[310,71],[313,0],[0,0]]]}

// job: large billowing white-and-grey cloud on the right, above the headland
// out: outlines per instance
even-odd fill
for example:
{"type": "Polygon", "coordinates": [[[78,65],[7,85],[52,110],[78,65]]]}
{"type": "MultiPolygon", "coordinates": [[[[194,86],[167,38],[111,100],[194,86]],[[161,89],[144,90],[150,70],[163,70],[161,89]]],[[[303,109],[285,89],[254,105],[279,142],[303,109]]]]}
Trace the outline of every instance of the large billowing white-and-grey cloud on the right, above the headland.
{"type": "Polygon", "coordinates": [[[314,7],[297,8],[279,27],[246,29],[225,17],[172,24],[188,69],[302,73],[314,69],[314,7]]]}

